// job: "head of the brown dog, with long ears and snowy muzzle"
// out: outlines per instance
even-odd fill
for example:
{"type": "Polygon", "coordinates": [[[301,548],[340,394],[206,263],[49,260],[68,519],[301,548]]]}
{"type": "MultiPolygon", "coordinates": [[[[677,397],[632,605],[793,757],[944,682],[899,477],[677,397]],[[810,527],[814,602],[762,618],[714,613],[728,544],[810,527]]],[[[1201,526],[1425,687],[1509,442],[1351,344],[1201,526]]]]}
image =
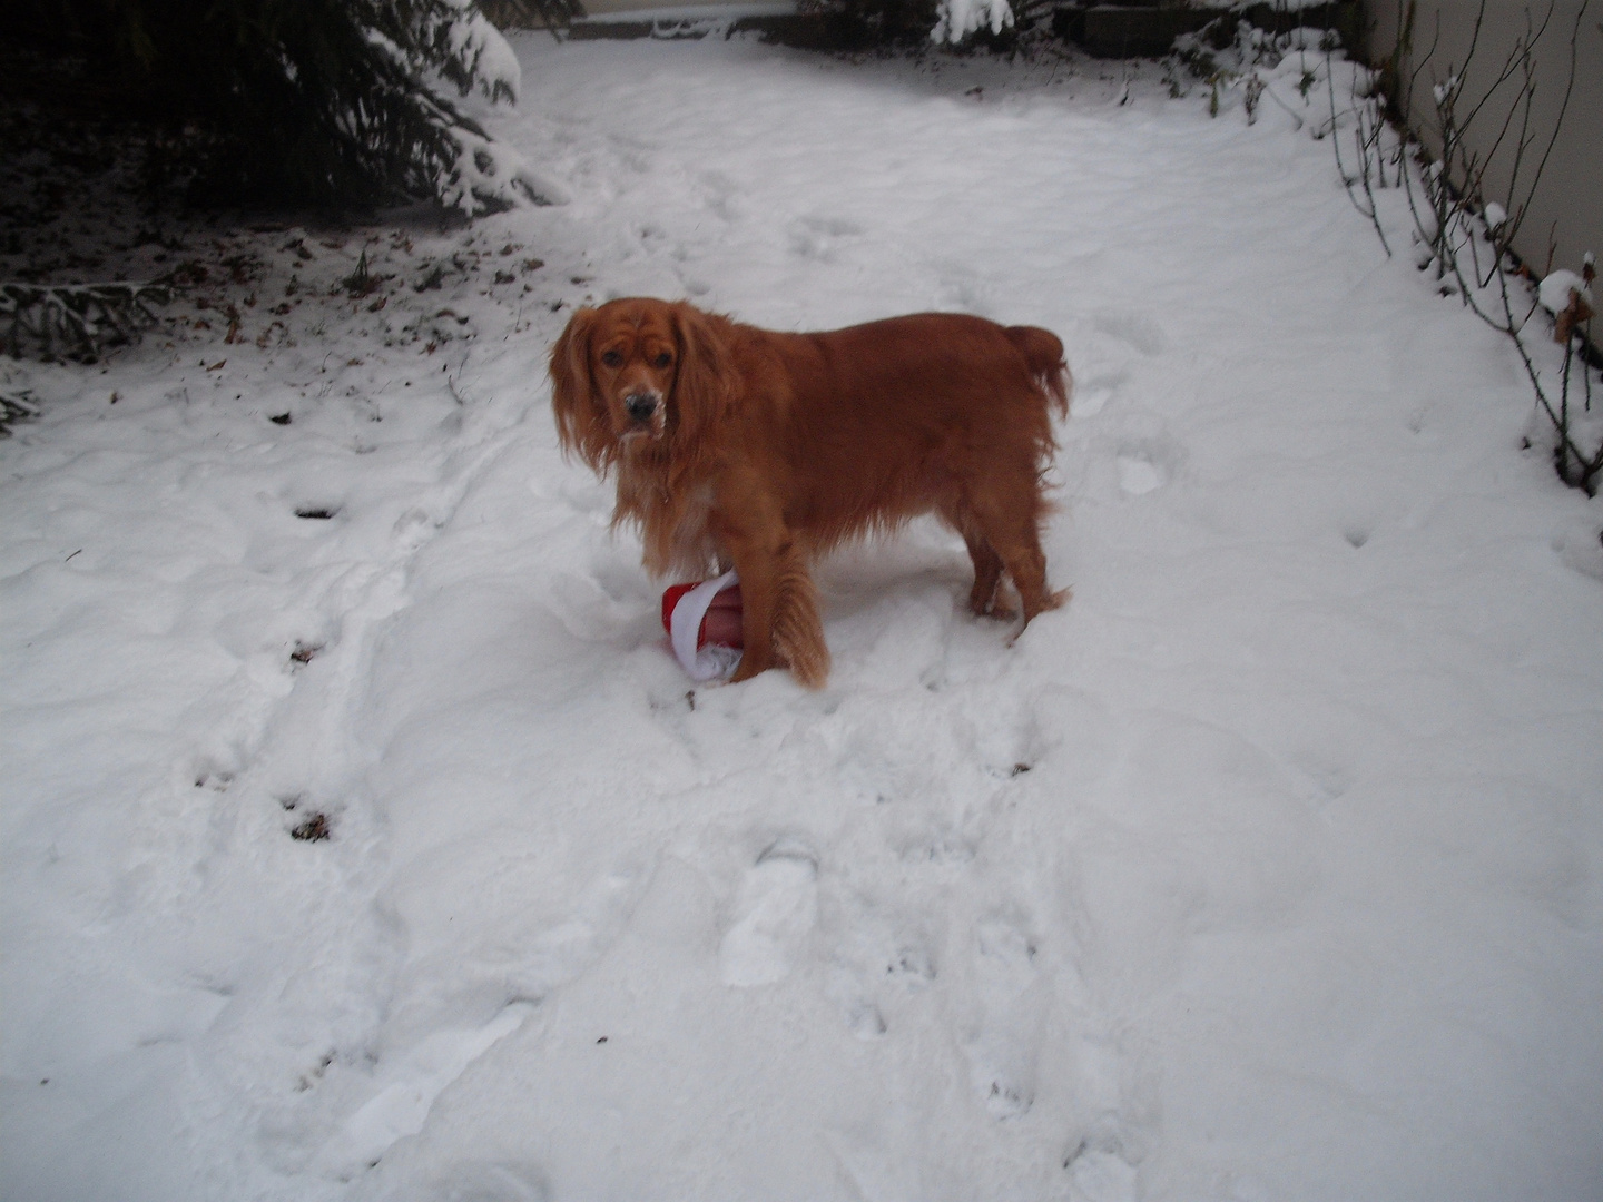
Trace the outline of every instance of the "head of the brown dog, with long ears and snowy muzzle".
{"type": "Polygon", "coordinates": [[[731,394],[707,314],[651,298],[579,309],[551,348],[551,407],[564,450],[600,473],[632,442],[684,444],[731,394]]]}

